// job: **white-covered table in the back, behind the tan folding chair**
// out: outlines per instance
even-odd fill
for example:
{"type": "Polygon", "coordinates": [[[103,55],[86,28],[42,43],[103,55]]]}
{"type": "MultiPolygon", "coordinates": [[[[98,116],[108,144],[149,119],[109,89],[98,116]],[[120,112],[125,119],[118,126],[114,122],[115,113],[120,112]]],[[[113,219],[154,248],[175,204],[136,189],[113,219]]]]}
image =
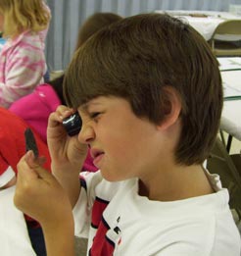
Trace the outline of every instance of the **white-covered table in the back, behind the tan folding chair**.
{"type": "Polygon", "coordinates": [[[208,41],[211,39],[216,27],[227,20],[241,20],[237,16],[227,12],[214,11],[184,11],[184,10],[156,10],[156,13],[167,13],[170,16],[186,21],[193,26],[208,41]]]}

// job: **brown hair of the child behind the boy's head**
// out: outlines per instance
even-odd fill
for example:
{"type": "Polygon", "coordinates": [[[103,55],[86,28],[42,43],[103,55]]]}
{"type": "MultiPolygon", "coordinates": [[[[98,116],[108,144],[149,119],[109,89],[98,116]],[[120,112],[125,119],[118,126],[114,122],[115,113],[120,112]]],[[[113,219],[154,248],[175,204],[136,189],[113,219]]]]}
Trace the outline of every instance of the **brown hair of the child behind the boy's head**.
{"type": "Polygon", "coordinates": [[[95,13],[90,16],[78,30],[75,50],[100,28],[111,25],[121,19],[119,15],[113,13],[95,13]]]}

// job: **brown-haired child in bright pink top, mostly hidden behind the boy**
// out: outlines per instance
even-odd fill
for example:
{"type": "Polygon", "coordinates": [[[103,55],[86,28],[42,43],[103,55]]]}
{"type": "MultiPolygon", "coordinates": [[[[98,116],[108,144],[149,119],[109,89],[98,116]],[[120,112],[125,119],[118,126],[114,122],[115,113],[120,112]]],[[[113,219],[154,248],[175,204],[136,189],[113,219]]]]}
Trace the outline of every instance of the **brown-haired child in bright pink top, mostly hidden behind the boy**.
{"type": "MultiPolygon", "coordinates": [[[[79,28],[76,50],[97,30],[121,19],[119,15],[113,13],[96,13],[90,16],[79,28]]],[[[10,111],[23,118],[28,125],[35,128],[45,142],[47,142],[46,129],[49,115],[56,111],[59,105],[66,105],[63,97],[64,77],[65,75],[62,75],[48,83],[39,84],[32,93],[17,100],[9,108],[10,111]]],[[[91,172],[97,170],[89,154],[82,170],[91,172]]]]}

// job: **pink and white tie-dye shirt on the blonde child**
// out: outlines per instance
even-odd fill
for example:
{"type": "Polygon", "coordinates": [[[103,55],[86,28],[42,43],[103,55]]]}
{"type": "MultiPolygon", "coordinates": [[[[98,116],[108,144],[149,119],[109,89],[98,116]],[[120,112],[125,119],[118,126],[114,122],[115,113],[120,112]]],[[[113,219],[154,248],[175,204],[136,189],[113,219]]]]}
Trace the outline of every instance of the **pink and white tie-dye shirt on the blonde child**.
{"type": "Polygon", "coordinates": [[[42,82],[47,71],[42,32],[24,31],[0,52],[0,106],[9,108],[42,82]]]}

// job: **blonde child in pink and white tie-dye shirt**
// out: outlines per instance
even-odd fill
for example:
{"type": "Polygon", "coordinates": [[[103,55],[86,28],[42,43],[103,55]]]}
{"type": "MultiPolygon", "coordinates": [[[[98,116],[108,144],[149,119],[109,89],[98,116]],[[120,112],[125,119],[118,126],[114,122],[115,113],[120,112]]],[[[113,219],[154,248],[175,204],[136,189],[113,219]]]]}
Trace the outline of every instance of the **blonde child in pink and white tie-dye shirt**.
{"type": "Polygon", "coordinates": [[[43,0],[1,0],[0,106],[9,108],[43,81],[50,10],[43,0]]]}

